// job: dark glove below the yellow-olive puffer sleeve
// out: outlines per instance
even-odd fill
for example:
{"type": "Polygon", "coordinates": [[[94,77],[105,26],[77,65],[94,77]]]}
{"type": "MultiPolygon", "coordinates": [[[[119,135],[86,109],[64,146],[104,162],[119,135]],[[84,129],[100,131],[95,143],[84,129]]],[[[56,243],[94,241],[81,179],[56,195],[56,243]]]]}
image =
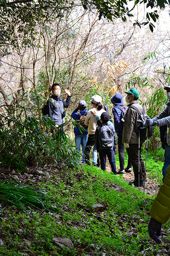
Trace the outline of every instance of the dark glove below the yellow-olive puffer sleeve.
{"type": "Polygon", "coordinates": [[[162,240],[159,238],[161,236],[162,223],[154,220],[152,217],[148,223],[148,232],[150,238],[152,238],[156,244],[162,243],[162,240]]]}

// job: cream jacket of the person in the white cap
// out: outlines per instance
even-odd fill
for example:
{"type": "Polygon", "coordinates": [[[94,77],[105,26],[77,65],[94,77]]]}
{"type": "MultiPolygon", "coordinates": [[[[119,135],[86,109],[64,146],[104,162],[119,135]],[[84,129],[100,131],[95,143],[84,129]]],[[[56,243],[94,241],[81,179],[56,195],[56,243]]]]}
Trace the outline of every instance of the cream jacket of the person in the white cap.
{"type": "Polygon", "coordinates": [[[88,110],[86,119],[84,124],[88,125],[88,134],[95,134],[97,123],[96,123],[96,116],[98,114],[102,114],[103,112],[106,112],[103,108],[101,110],[97,110],[97,108],[92,108],[88,110]]]}

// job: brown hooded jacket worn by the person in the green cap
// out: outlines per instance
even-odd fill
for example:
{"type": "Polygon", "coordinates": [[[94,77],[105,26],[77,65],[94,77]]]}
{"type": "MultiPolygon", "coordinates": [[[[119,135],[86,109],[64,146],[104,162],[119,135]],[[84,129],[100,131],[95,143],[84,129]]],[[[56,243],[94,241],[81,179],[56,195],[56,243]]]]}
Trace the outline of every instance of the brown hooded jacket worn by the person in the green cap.
{"type": "MultiPolygon", "coordinates": [[[[136,125],[136,120],[140,118],[138,112],[130,106],[135,106],[139,112],[142,114],[143,108],[139,104],[138,100],[132,101],[128,104],[128,110],[125,115],[124,128],[122,134],[122,143],[138,144],[138,136],[136,132],[138,131],[138,126],[136,125]],[[135,132],[136,131],[136,132],[135,132]]],[[[143,143],[144,140],[140,140],[143,143]]]]}

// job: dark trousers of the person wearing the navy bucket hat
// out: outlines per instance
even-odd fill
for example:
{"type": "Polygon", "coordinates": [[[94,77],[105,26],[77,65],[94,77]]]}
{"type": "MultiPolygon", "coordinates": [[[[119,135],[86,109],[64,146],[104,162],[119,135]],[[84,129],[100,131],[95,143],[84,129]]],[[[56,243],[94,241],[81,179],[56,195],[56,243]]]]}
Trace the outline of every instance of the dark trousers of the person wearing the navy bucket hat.
{"type": "MultiPolygon", "coordinates": [[[[118,152],[119,152],[119,163],[120,163],[120,171],[124,170],[124,144],[122,143],[122,134],[118,134],[118,152]]],[[[128,157],[128,166],[127,169],[132,167],[132,163],[128,157]]]]}

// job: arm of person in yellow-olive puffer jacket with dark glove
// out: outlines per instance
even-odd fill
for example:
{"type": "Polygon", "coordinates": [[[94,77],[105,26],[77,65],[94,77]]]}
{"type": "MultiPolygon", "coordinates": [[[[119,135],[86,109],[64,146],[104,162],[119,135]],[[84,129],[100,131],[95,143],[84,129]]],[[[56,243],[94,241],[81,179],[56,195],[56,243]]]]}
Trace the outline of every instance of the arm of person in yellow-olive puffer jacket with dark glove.
{"type": "Polygon", "coordinates": [[[167,174],[164,183],[161,185],[159,192],[150,209],[150,221],[148,224],[148,232],[157,244],[162,240],[161,236],[162,224],[166,223],[170,218],[170,165],[167,168],[167,174]]]}

